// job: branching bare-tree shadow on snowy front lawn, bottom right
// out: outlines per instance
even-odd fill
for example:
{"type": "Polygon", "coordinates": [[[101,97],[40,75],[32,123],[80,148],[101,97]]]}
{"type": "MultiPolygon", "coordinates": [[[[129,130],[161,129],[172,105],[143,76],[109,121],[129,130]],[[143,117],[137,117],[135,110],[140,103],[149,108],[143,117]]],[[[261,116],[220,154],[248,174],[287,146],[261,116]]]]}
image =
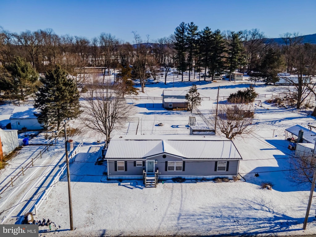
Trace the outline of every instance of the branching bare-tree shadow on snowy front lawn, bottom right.
{"type": "MultiPolygon", "coordinates": [[[[302,229],[304,217],[295,218],[273,210],[270,203],[258,200],[253,202],[248,199],[224,199],[225,204],[220,207],[203,205],[194,211],[180,210],[177,218],[181,233],[191,233],[192,227],[200,231],[198,234],[207,235],[250,235],[274,234],[302,229]],[[234,204],[238,202],[238,204],[234,204]]],[[[308,222],[315,221],[314,217],[308,222]]],[[[194,231],[194,230],[193,230],[194,231]]]]}

